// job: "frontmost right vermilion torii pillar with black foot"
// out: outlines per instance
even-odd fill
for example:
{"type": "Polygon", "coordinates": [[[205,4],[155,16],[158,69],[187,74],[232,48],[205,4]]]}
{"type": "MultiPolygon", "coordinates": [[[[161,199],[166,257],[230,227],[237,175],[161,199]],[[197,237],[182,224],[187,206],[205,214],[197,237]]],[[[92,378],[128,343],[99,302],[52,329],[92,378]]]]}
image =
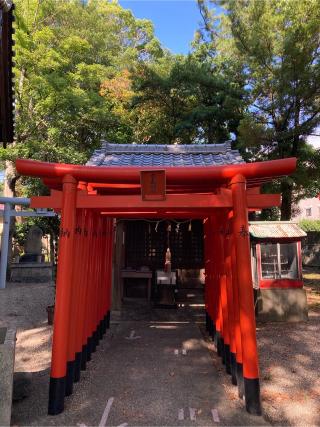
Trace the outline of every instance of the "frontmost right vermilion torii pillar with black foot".
{"type": "Polygon", "coordinates": [[[244,394],[249,413],[261,415],[259,362],[251,273],[246,180],[236,175],[231,180],[233,238],[239,292],[239,317],[242,342],[244,394]]]}

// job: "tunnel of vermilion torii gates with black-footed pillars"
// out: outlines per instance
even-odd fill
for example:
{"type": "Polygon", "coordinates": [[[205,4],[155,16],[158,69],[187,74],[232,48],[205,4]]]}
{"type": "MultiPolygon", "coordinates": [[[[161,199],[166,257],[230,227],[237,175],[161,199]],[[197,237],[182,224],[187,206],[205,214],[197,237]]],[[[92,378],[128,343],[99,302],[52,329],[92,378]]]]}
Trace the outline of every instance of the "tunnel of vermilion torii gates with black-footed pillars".
{"type": "Polygon", "coordinates": [[[260,187],[291,174],[296,159],[167,168],[19,159],[16,168],[51,190],[31,207],[61,213],[48,413],[63,411],[109,327],[114,219],[200,218],[206,327],[247,411],[261,414],[248,212],[280,205],[280,195],[260,187]],[[164,200],[143,200],[141,172],[158,169],[165,171],[164,200]]]}

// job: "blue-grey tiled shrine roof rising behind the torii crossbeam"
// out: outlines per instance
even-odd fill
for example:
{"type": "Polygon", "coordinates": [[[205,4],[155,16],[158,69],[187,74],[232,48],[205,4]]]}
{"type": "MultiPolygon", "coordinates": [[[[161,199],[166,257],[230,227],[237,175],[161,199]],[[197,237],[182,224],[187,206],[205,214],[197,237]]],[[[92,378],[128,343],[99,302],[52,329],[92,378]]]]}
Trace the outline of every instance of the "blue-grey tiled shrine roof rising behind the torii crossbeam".
{"type": "Polygon", "coordinates": [[[231,142],[223,144],[143,145],[103,142],[88,166],[218,166],[243,163],[231,142]]]}

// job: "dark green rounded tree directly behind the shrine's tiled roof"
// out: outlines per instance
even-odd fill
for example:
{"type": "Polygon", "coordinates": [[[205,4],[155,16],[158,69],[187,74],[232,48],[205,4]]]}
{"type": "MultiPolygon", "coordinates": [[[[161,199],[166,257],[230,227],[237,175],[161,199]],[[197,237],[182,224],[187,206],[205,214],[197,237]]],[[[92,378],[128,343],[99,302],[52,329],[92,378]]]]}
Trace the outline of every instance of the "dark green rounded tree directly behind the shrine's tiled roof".
{"type": "Polygon", "coordinates": [[[243,88],[196,57],[166,55],[133,76],[141,140],[219,143],[242,117],[243,88]]]}

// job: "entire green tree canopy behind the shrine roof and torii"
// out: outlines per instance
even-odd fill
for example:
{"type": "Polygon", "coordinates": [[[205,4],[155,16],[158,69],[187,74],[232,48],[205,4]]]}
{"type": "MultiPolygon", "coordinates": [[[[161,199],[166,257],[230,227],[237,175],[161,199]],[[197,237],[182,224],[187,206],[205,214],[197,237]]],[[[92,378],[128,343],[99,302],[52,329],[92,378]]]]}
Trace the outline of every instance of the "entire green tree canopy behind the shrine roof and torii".
{"type": "MultiPolygon", "coordinates": [[[[282,193],[282,219],[320,192],[320,154],[307,143],[320,122],[320,0],[198,0],[189,55],[166,50],[116,0],[15,3],[16,142],[0,160],[84,163],[102,139],[232,139],[247,161],[298,157],[297,172],[269,187],[282,193]]],[[[26,195],[44,191],[19,182],[26,195]]]]}

